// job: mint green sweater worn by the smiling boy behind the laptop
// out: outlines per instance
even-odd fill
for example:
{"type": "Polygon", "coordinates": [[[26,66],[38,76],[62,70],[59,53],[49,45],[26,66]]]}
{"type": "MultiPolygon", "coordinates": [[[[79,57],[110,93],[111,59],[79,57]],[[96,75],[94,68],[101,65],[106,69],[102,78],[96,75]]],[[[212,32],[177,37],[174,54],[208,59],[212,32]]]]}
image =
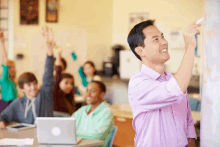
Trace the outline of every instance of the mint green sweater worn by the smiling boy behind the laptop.
{"type": "Polygon", "coordinates": [[[79,138],[104,140],[105,146],[111,138],[114,127],[113,113],[109,104],[103,101],[93,112],[87,115],[91,105],[81,107],[72,117],[76,119],[76,134],[79,138]]]}

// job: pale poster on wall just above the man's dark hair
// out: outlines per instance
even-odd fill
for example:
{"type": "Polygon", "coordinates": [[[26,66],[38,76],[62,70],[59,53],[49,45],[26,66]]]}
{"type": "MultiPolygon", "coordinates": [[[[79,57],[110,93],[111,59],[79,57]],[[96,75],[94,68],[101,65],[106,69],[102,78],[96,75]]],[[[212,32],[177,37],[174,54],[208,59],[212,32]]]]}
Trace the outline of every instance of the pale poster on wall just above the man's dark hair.
{"type": "Polygon", "coordinates": [[[149,18],[148,13],[130,13],[129,14],[129,31],[138,23],[149,18]]]}

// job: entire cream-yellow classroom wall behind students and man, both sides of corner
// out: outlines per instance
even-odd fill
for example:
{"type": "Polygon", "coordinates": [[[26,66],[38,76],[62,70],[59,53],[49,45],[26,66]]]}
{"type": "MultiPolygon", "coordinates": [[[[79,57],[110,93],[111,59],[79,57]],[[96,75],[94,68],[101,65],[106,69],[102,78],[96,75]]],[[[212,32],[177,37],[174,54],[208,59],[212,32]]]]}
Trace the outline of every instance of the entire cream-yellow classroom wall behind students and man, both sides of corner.
{"type": "MultiPolygon", "coordinates": [[[[93,60],[97,69],[102,69],[102,61],[112,54],[111,46],[113,44],[120,43],[129,49],[126,41],[130,31],[129,13],[148,13],[150,19],[156,20],[156,25],[164,32],[165,37],[168,36],[166,34],[171,29],[184,29],[189,23],[203,16],[202,0],[137,0],[135,2],[133,0],[60,0],[58,23],[46,23],[46,0],[39,0],[39,24],[27,26],[20,25],[19,22],[20,0],[14,0],[13,2],[14,40],[16,42],[16,37],[18,38],[19,36],[26,39],[26,45],[24,47],[21,47],[22,45],[16,46],[16,44],[14,46],[14,54],[23,50],[26,55],[23,62],[17,61],[18,75],[24,70],[33,71],[35,68],[34,55],[32,54],[36,52],[36,49],[33,48],[37,48],[36,45],[39,45],[36,43],[37,41],[39,42],[41,40],[43,42],[42,38],[40,39],[40,33],[41,27],[45,25],[52,27],[57,35],[68,31],[73,32],[73,34],[80,34],[81,41],[73,41],[72,44],[80,54],[81,62],[93,60]],[[74,44],[78,45],[74,46],[74,44]],[[79,44],[83,45],[79,46],[79,44]]],[[[59,43],[66,49],[66,46],[63,45],[64,39],[60,36],[55,36],[55,38],[58,38],[59,43]]],[[[199,56],[201,56],[201,39],[202,37],[198,39],[199,56]]],[[[41,52],[44,54],[45,44],[41,43],[39,46],[42,46],[43,49],[41,49],[41,52]]],[[[178,69],[184,50],[169,48],[171,59],[166,64],[169,71],[174,73],[178,69]]],[[[69,59],[69,52],[70,50],[67,51],[66,49],[64,55],[68,55],[68,62],[72,62],[69,59]]],[[[42,56],[42,58],[43,62],[45,56],[42,56]]],[[[195,64],[198,64],[199,67],[201,67],[200,60],[201,57],[196,57],[195,59],[195,64]]],[[[70,63],[70,66],[72,65],[70,63]]],[[[67,71],[72,72],[73,69],[70,66],[67,71]]],[[[42,71],[38,75],[41,78],[42,71]]],[[[74,72],[74,76],[78,76],[76,72],[74,72]]]]}

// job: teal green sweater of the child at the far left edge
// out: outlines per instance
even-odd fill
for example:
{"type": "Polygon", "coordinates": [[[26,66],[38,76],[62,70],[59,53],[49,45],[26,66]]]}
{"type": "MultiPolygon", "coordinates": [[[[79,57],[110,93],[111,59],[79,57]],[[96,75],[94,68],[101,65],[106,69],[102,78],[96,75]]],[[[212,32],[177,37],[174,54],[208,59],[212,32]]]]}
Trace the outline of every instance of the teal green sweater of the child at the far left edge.
{"type": "Polygon", "coordinates": [[[8,103],[10,100],[17,98],[17,88],[16,84],[9,78],[9,66],[2,65],[2,67],[3,72],[0,79],[2,100],[8,103]]]}

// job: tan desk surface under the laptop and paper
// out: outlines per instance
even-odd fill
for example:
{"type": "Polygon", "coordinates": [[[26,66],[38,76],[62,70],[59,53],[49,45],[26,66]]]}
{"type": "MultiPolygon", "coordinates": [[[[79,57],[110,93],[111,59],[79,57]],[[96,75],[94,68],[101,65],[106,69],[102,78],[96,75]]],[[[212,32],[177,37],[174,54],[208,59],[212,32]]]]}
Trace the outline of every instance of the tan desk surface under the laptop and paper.
{"type": "Polygon", "coordinates": [[[93,139],[83,139],[79,142],[78,145],[40,145],[37,142],[37,132],[36,128],[31,128],[23,131],[8,131],[8,130],[0,130],[0,139],[2,138],[34,138],[33,147],[89,147],[89,146],[99,146],[104,145],[104,141],[102,140],[93,140],[93,139]]]}

